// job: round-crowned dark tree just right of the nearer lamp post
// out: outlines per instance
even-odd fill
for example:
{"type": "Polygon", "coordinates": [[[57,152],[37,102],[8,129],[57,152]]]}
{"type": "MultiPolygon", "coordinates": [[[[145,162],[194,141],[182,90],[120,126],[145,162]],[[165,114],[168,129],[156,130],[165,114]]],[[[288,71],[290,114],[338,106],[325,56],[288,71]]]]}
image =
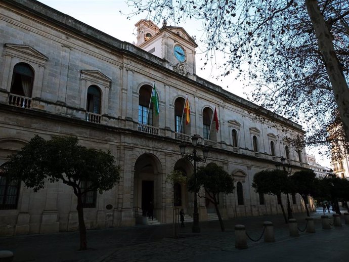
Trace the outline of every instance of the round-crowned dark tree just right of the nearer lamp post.
{"type": "Polygon", "coordinates": [[[210,201],[216,210],[218,219],[220,221],[222,232],[225,231],[222,215],[218,205],[220,204],[219,194],[230,194],[234,192],[234,180],[230,174],[223,169],[222,166],[210,163],[207,166],[200,166],[196,171],[196,187],[195,178],[192,176],[188,180],[188,190],[190,192],[199,192],[200,188],[203,187],[205,195],[198,196],[205,198],[210,201]]]}

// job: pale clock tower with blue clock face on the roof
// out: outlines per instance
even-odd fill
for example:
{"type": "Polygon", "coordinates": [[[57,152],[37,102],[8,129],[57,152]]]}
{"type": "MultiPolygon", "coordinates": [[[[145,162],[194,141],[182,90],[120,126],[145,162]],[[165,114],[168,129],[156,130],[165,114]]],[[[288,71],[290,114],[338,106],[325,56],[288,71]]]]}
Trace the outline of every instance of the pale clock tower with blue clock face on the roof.
{"type": "Polygon", "coordinates": [[[150,20],[140,20],[136,25],[136,46],[164,59],[166,67],[191,77],[195,72],[194,39],[182,28],[167,26],[166,21],[159,28],[150,20]]]}

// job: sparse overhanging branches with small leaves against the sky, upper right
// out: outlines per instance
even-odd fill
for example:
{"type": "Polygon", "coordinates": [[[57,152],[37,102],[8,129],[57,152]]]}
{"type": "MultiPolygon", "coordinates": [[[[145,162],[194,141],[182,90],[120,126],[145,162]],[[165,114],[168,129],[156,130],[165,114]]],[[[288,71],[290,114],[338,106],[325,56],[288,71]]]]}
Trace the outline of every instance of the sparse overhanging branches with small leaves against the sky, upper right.
{"type": "MultiPolygon", "coordinates": [[[[337,110],[349,138],[349,4],[343,0],[128,0],[134,14],[202,22],[207,62],[255,84],[259,105],[309,126],[308,144],[327,143],[337,110]],[[301,120],[300,119],[300,120],[301,120]]],[[[207,63],[206,62],[206,63],[207,63]]],[[[262,116],[267,111],[260,111],[262,116]]]]}

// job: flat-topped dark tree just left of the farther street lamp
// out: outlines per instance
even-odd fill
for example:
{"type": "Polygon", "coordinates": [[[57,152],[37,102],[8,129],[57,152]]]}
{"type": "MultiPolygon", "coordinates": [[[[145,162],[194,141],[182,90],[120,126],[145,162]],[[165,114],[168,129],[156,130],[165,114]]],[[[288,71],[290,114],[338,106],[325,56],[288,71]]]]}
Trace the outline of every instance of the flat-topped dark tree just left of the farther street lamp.
{"type": "Polygon", "coordinates": [[[281,201],[282,193],[292,193],[289,187],[287,172],[284,170],[261,170],[255,173],[252,188],[257,193],[275,195],[280,199],[282,214],[287,224],[286,213],[281,201]]]}

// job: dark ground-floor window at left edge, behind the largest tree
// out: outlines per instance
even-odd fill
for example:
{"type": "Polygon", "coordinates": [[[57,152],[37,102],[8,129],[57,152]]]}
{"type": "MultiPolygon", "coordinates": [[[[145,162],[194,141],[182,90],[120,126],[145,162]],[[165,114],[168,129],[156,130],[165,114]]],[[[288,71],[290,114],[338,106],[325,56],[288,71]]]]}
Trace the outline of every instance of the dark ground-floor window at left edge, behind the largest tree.
{"type": "Polygon", "coordinates": [[[20,182],[0,176],[0,209],[17,209],[20,182]]]}

